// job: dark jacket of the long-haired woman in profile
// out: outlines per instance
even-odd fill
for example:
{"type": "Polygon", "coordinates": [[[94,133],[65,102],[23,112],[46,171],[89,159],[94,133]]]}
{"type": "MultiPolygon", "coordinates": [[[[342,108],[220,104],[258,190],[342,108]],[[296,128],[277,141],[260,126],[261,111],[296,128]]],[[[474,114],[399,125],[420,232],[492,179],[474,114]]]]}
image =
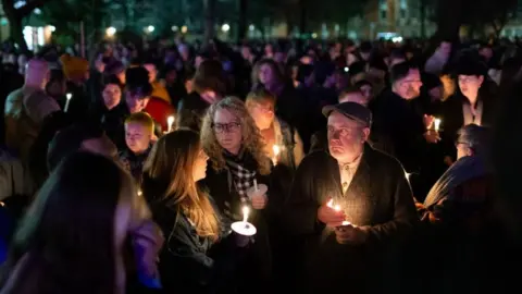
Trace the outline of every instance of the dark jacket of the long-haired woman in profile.
{"type": "Polygon", "coordinates": [[[142,187],[165,237],[159,264],[163,293],[234,293],[235,267],[245,249],[235,246],[229,230],[223,226],[216,243],[200,237],[185,213],[160,199],[160,183],[145,176],[142,187]]]}

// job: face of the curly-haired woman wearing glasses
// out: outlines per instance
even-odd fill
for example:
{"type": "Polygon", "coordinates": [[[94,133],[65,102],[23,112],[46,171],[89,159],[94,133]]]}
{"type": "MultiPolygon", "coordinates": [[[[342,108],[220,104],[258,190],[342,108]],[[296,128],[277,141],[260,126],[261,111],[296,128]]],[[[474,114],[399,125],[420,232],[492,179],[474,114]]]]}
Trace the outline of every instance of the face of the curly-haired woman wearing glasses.
{"type": "Polygon", "coordinates": [[[237,155],[243,142],[239,119],[226,109],[219,109],[215,111],[212,127],[220,146],[228,152],[237,155]]]}

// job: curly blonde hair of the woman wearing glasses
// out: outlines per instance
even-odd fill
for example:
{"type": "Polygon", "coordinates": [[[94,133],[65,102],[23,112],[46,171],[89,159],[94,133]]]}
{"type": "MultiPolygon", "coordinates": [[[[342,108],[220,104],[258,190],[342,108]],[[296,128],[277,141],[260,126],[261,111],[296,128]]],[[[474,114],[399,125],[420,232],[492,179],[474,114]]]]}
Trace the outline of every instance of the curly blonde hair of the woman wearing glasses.
{"type": "Polygon", "coordinates": [[[264,154],[264,139],[253,122],[252,117],[248,113],[245,103],[237,97],[226,97],[213,103],[203,118],[200,133],[201,144],[212,161],[212,167],[216,171],[221,171],[225,169],[226,166],[225,158],[223,157],[223,147],[221,147],[217,142],[214,130],[212,128],[215,112],[220,109],[226,109],[237,117],[241,125],[243,147],[252,155],[258,163],[257,172],[263,175],[269,174],[271,166],[270,159],[264,154]]]}

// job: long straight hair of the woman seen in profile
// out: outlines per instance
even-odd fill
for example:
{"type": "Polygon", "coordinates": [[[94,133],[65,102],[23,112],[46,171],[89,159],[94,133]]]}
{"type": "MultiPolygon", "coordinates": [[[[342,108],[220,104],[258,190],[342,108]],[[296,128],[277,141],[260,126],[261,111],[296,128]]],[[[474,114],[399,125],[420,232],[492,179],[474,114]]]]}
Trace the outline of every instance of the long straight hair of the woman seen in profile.
{"type": "MultiPolygon", "coordinates": [[[[199,236],[216,241],[220,235],[216,212],[208,195],[198,189],[192,176],[200,150],[197,133],[177,130],[162,136],[152,147],[144,171],[152,182],[165,185],[162,200],[185,213],[199,236]]],[[[147,195],[147,191],[144,193],[147,195]]]]}

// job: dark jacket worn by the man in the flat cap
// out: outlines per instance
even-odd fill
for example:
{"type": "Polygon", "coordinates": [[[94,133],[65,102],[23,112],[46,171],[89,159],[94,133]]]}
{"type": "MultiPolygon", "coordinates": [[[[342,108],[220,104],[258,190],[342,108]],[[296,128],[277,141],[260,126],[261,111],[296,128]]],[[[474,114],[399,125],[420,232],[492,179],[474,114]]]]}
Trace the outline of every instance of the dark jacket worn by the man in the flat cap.
{"type": "Polygon", "coordinates": [[[297,170],[283,212],[287,234],[293,236],[288,253],[295,253],[294,279],[307,281],[307,293],[344,292],[347,285],[350,293],[391,293],[391,283],[399,281],[394,260],[401,249],[399,241],[418,221],[405,171],[396,159],[365,146],[341,196],[348,219],[368,236],[363,245],[353,246],[338,244],[316,217],[322,204],[341,194],[338,170],[337,161],[322,151],[306,157],[297,170]],[[299,272],[299,268],[304,270],[299,272]]]}

